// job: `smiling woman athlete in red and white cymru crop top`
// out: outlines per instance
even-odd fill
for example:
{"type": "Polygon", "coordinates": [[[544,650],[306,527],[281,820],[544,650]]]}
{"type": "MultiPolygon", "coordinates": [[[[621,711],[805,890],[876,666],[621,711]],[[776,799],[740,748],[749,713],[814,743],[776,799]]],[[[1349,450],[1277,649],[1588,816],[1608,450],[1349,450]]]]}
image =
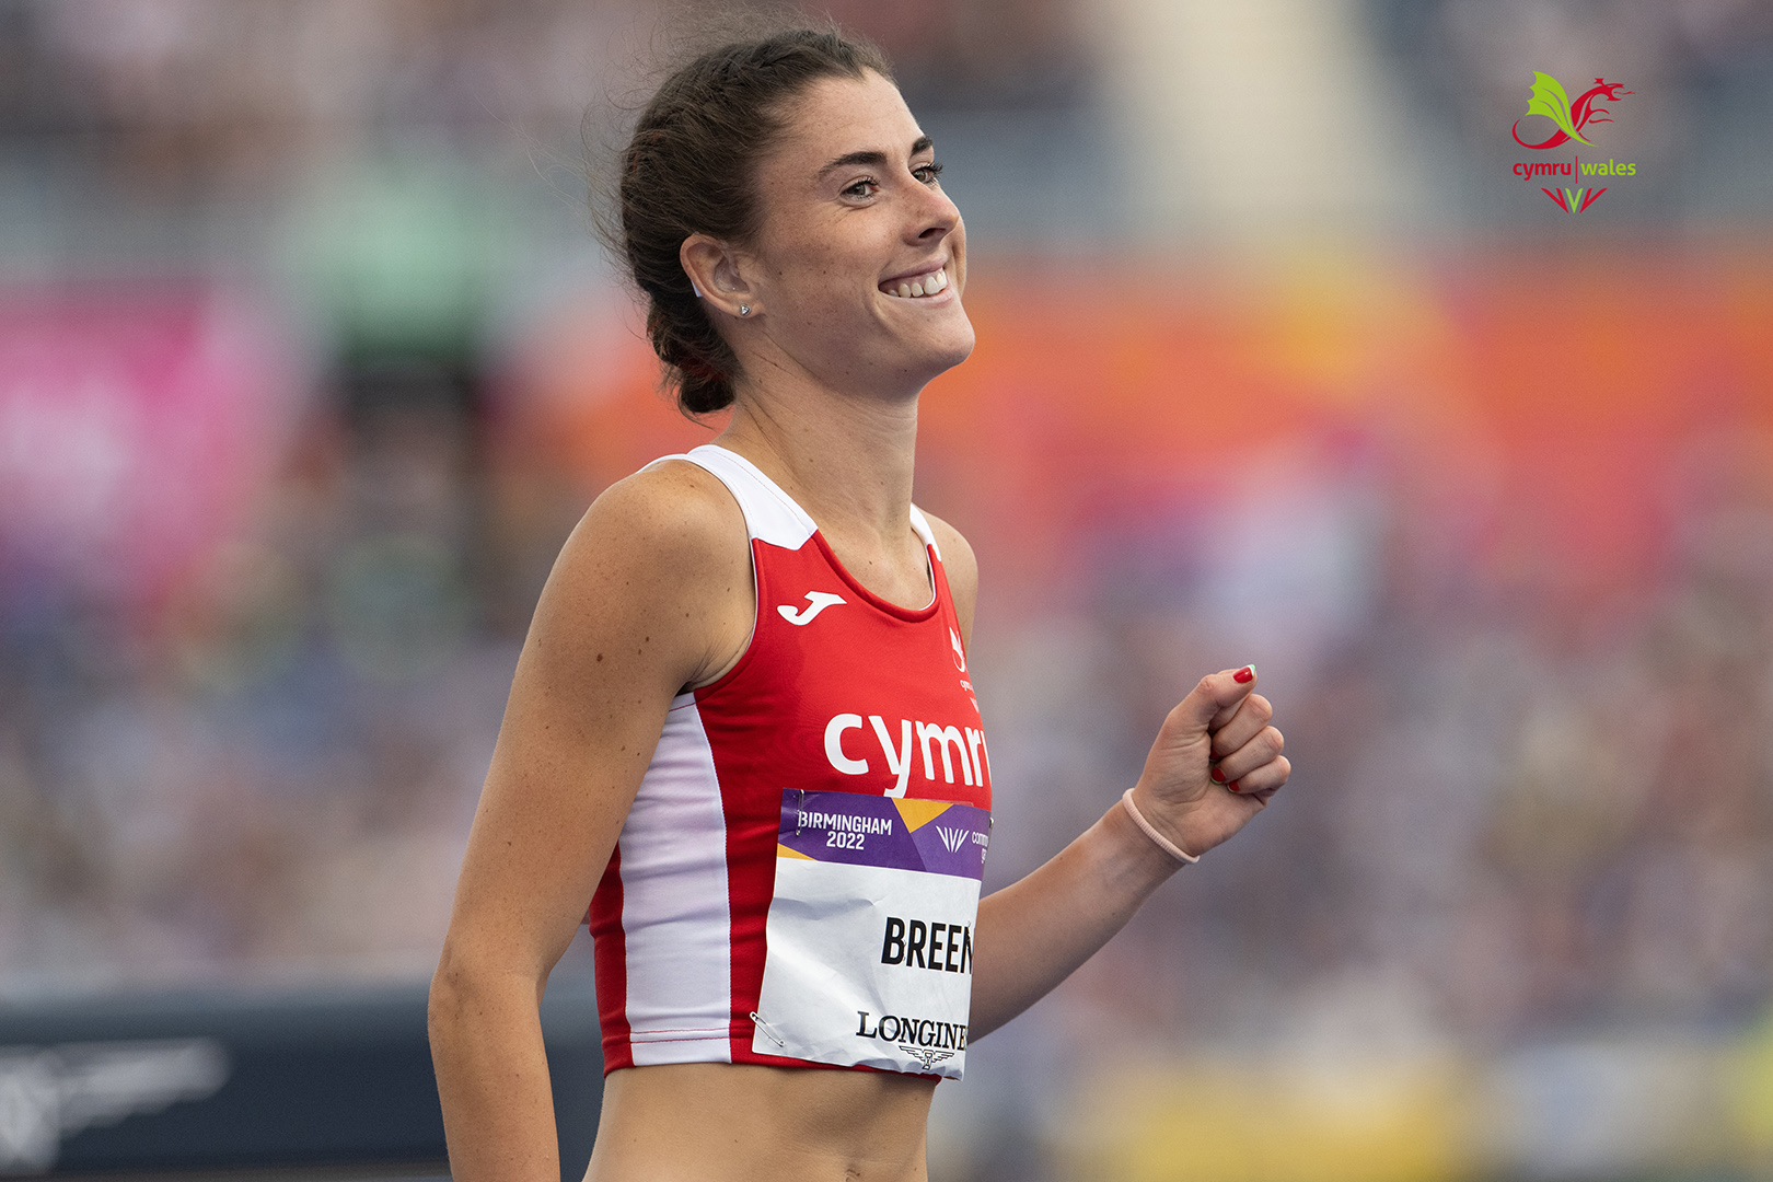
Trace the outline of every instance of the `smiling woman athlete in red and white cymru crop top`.
{"type": "Polygon", "coordinates": [[[938,1079],[1289,773],[1248,666],[1128,794],[979,898],[977,569],[911,505],[966,358],[966,230],[881,55],[832,32],[674,74],[621,161],[647,331],[713,445],[606,489],[541,595],[468,842],[431,1044],[459,1182],[558,1177],[537,1005],[590,911],[587,1178],[926,1177],[938,1079]]]}

